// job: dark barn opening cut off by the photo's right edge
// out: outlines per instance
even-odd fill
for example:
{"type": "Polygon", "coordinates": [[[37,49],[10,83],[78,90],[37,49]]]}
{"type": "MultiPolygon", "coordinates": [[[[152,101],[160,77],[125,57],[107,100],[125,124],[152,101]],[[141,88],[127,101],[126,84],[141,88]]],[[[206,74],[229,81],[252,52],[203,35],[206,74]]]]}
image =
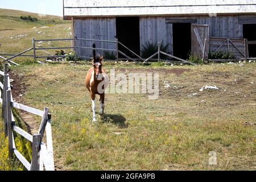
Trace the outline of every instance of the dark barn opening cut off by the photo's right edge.
{"type": "MultiPolygon", "coordinates": [[[[256,41],[256,24],[243,24],[243,38],[256,41]]],[[[256,44],[248,45],[249,57],[256,57],[256,44]]]]}

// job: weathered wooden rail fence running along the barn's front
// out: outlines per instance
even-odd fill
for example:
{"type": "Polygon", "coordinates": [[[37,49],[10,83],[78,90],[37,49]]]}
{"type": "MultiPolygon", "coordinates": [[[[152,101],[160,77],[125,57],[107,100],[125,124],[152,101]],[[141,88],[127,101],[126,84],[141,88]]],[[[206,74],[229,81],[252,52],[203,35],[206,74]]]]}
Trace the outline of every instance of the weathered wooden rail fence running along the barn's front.
{"type": "MultiPolygon", "coordinates": [[[[210,44],[210,51],[212,52],[217,52],[219,51],[221,48],[227,46],[228,52],[230,52],[230,49],[233,48],[236,55],[239,55],[242,59],[251,59],[249,58],[249,53],[248,53],[248,45],[249,44],[256,44],[256,41],[247,41],[247,39],[235,39],[235,38],[209,38],[204,40],[204,45],[202,44],[202,48],[203,48],[203,60],[205,59],[205,57],[207,57],[207,42],[209,42],[210,44]],[[244,57],[244,58],[243,58],[244,57]]],[[[77,38],[75,36],[75,38],[72,39],[39,39],[36,40],[35,38],[32,38],[32,47],[27,49],[26,51],[20,52],[16,55],[13,54],[0,54],[0,59],[3,59],[5,61],[8,61],[11,64],[14,65],[19,65],[14,63],[13,61],[11,61],[11,59],[14,59],[17,56],[29,56],[29,57],[34,57],[34,59],[38,59],[38,58],[55,58],[55,59],[61,59],[62,57],[76,57],[77,56],[77,49],[96,49],[99,51],[114,51],[116,53],[116,59],[119,60],[119,55],[125,56],[127,59],[134,61],[135,63],[138,63],[138,61],[143,61],[143,63],[146,63],[148,60],[155,60],[152,59],[152,57],[158,55],[158,61],[160,61],[160,54],[166,55],[168,57],[171,57],[171,60],[167,60],[170,62],[174,62],[176,63],[178,60],[181,63],[187,63],[187,64],[192,64],[191,62],[184,60],[184,59],[180,59],[179,57],[175,57],[173,55],[170,55],[169,53],[166,52],[162,52],[160,50],[160,45],[158,43],[158,52],[154,53],[152,56],[148,57],[147,59],[141,57],[139,54],[135,53],[134,51],[132,51],[130,48],[128,48],[127,46],[125,46],[125,44],[119,42],[118,39],[115,40],[98,40],[98,39],[84,39],[84,38],[77,38]],[[72,41],[72,46],[71,47],[36,47],[36,43],[38,42],[61,42],[61,41],[72,41]],[[101,42],[101,43],[113,43],[115,44],[115,48],[93,48],[93,47],[89,47],[89,46],[77,46],[80,45],[79,41],[82,42],[101,42]],[[124,47],[128,52],[131,52],[135,57],[137,58],[133,58],[131,56],[128,56],[127,53],[120,51],[119,50],[119,46],[124,47]],[[45,50],[53,50],[53,49],[73,49],[76,52],[76,55],[52,55],[51,53],[45,51],[45,50]],[[24,53],[28,52],[28,51],[33,51],[32,55],[24,55],[24,53]],[[43,51],[44,53],[47,53],[46,56],[38,56],[36,55],[37,51],[43,51]],[[11,56],[9,58],[3,57],[3,56],[11,56]]],[[[88,56],[84,56],[86,58],[88,58],[88,56]]],[[[40,61],[38,61],[40,62],[40,61]]],[[[42,63],[42,62],[41,62],[42,63]]]]}

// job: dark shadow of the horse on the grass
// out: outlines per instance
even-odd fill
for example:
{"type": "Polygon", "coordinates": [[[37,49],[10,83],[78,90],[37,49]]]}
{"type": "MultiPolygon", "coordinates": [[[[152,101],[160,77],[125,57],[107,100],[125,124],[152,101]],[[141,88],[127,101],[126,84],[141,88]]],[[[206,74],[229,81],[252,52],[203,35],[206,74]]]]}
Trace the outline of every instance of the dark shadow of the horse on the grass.
{"type": "Polygon", "coordinates": [[[125,123],[126,118],[120,114],[104,114],[101,116],[102,122],[114,123],[115,125],[126,128],[128,124],[125,123]]]}

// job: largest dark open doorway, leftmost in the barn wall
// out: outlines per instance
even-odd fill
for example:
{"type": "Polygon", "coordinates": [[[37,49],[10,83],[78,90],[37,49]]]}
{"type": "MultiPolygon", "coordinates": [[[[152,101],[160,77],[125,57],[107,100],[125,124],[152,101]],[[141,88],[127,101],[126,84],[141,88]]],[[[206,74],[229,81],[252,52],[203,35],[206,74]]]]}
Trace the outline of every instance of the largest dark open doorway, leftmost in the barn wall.
{"type": "MultiPolygon", "coordinates": [[[[139,17],[117,17],[116,23],[118,41],[139,55],[139,17]]],[[[127,56],[135,57],[133,53],[121,45],[118,46],[118,49],[127,56]]],[[[119,57],[125,56],[119,53],[119,57]]]]}

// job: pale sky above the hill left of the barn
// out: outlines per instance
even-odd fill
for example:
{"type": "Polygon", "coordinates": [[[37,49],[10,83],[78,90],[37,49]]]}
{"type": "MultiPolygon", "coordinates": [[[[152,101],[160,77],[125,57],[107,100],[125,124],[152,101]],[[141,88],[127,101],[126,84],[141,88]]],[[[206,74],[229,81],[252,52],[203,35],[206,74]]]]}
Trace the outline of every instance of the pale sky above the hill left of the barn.
{"type": "Polygon", "coordinates": [[[63,16],[63,0],[0,0],[0,9],[63,16]]]}

